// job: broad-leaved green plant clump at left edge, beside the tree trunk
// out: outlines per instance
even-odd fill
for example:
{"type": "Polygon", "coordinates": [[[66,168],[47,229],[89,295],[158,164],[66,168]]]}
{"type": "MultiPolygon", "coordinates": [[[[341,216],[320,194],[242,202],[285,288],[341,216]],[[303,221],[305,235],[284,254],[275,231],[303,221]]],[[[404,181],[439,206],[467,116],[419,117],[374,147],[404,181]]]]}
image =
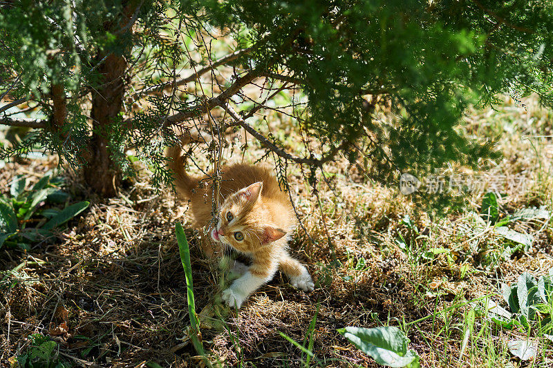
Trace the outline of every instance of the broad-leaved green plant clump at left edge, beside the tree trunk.
{"type": "Polygon", "coordinates": [[[56,206],[64,204],[69,197],[59,189],[62,180],[46,174],[26,190],[26,177],[15,177],[10,187],[11,197],[0,196],[0,248],[30,249],[31,244],[50,238],[55,228],[88,208],[88,202],[64,208],[56,206]]]}

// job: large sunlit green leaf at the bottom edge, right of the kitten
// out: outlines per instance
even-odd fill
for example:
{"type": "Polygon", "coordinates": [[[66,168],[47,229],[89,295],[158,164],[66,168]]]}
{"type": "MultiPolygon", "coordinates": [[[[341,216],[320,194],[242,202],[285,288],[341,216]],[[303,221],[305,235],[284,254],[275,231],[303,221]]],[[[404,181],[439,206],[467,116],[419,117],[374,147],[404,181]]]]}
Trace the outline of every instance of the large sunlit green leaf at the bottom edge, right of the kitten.
{"type": "Polygon", "coordinates": [[[406,367],[418,358],[415,351],[407,351],[409,339],[397,327],[345,327],[338,331],[381,365],[406,367]]]}

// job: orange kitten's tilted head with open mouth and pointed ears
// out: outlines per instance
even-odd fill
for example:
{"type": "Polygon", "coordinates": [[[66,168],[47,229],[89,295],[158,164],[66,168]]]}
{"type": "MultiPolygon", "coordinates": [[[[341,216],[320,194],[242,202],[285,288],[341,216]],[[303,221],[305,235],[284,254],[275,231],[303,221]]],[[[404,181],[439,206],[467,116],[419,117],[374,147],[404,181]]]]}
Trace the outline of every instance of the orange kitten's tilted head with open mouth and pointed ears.
{"type": "Polygon", "coordinates": [[[284,230],[268,224],[270,219],[261,206],[256,206],[262,188],[263,182],[257,182],[225,199],[211,231],[213,240],[237,251],[251,252],[286,235],[284,230]]]}

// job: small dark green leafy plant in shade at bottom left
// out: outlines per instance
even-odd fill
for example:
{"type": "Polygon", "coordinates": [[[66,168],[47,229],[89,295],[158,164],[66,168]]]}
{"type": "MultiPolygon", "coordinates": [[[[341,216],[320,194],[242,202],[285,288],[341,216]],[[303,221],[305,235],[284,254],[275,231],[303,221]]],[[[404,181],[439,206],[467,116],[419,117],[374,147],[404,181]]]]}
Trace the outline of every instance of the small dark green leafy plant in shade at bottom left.
{"type": "Polygon", "coordinates": [[[71,363],[64,362],[57,356],[57,342],[50,340],[48,336],[34,333],[30,338],[30,346],[26,354],[17,356],[18,368],[65,368],[71,367],[71,363]]]}

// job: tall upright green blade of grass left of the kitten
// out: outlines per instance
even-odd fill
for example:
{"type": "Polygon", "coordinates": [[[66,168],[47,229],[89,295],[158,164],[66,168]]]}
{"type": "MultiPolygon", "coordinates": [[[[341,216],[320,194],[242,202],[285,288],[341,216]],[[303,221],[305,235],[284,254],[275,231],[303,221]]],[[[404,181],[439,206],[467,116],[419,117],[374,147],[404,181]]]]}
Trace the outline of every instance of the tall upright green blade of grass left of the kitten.
{"type": "MultiPolygon", "coordinates": [[[[180,262],[182,262],[182,268],[185,269],[186,287],[187,287],[187,304],[188,304],[188,316],[190,318],[190,340],[194,349],[201,356],[205,356],[202,342],[200,341],[200,322],[196,315],[196,306],[194,304],[194,288],[192,287],[192,267],[190,265],[190,249],[188,246],[188,240],[185,235],[185,231],[182,229],[180,222],[177,222],[175,235],[178,242],[178,252],[180,253],[180,262]]],[[[207,359],[206,359],[207,360],[207,359]]]]}

